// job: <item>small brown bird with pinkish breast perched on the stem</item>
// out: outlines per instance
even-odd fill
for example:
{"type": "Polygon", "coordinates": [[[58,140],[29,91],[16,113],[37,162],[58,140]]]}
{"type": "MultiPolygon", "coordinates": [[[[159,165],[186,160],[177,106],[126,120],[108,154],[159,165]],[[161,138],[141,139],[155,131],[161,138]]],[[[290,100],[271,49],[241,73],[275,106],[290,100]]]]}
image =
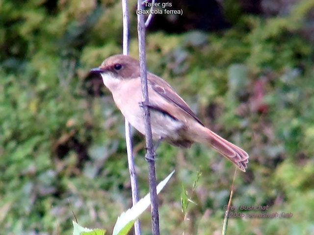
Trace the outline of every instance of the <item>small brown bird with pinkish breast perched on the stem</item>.
{"type": "MultiPolygon", "coordinates": [[[[139,61],[127,55],[113,55],[93,73],[100,73],[104,85],[130,124],[145,135],[139,61]]],[[[248,154],[207,128],[186,102],[161,77],[147,72],[152,137],[171,145],[189,148],[193,142],[207,144],[245,172],[248,154]]]]}

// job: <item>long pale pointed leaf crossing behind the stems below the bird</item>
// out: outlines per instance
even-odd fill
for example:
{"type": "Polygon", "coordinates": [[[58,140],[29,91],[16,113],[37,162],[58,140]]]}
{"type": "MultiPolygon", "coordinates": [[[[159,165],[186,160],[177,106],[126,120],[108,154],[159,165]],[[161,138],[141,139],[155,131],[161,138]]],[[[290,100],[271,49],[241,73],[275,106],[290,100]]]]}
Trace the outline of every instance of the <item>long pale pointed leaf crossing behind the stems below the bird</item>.
{"type": "MultiPolygon", "coordinates": [[[[157,185],[157,194],[163,187],[168,183],[169,179],[175,171],[172,171],[163,181],[157,185]]],[[[133,226],[136,219],[143,211],[145,211],[151,204],[150,194],[148,193],[145,197],[138,201],[131,209],[126,212],[122,212],[118,217],[117,222],[113,228],[112,235],[126,235],[131,227],[133,226]]]]}

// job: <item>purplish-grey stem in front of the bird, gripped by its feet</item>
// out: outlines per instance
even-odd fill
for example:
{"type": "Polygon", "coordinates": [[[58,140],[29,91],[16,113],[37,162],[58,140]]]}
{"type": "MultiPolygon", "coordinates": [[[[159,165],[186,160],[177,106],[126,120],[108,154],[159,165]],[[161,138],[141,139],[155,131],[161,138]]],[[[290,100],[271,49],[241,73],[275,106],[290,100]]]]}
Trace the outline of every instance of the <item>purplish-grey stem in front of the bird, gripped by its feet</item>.
{"type": "MultiPolygon", "coordinates": [[[[137,9],[143,10],[142,0],[137,1],[137,9]]],[[[151,115],[147,104],[149,104],[148,87],[147,87],[147,71],[146,71],[146,51],[145,51],[145,21],[144,15],[137,15],[137,33],[139,47],[139,62],[140,75],[142,84],[143,98],[143,114],[145,121],[145,139],[146,139],[146,159],[148,162],[149,176],[149,192],[151,198],[151,213],[152,213],[152,229],[153,235],[159,235],[159,215],[158,215],[158,200],[156,192],[156,172],[154,160],[154,144],[152,138],[151,115]]]]}

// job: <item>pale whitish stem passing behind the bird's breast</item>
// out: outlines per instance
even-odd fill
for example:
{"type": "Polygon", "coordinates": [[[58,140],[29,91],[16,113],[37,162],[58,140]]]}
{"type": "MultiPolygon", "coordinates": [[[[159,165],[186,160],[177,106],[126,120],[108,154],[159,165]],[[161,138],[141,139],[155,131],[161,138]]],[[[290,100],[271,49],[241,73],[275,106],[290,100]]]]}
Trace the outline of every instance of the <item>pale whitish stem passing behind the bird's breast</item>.
{"type": "MultiPolygon", "coordinates": [[[[123,15],[123,54],[128,55],[129,53],[128,0],[122,0],[122,15],[123,15]]],[[[134,206],[138,202],[137,182],[136,182],[136,173],[135,173],[133,152],[132,152],[131,126],[127,119],[125,119],[125,130],[126,130],[128,164],[129,164],[130,179],[131,179],[132,204],[134,206]]],[[[141,235],[141,227],[140,227],[139,219],[136,220],[134,223],[134,234],[141,235]]]]}

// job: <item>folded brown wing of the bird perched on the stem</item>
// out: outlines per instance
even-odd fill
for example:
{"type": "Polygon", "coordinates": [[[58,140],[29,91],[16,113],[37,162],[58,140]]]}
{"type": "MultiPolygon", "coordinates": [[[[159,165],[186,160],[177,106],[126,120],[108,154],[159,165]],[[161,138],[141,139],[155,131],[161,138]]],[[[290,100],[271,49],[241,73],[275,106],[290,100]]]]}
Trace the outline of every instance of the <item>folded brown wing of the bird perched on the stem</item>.
{"type": "MultiPolygon", "coordinates": [[[[203,125],[203,123],[196,117],[196,115],[193,113],[190,107],[188,107],[185,101],[175,92],[175,90],[166,81],[164,81],[157,75],[150,73],[150,76],[148,76],[148,83],[149,85],[152,86],[152,89],[157,94],[162,96],[167,101],[175,104],[177,107],[182,109],[186,114],[188,114],[197,122],[199,122],[201,125],[203,125]]],[[[169,111],[167,112],[170,113],[169,111]]]]}

